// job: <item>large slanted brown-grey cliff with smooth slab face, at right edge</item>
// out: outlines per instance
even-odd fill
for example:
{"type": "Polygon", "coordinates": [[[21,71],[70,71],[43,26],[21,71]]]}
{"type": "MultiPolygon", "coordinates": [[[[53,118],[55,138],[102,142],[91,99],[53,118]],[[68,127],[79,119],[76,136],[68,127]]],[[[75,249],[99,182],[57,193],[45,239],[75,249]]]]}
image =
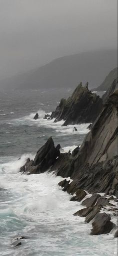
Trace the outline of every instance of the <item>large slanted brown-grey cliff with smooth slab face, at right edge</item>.
{"type": "Polygon", "coordinates": [[[117,91],[109,96],[77,154],[60,154],[51,170],[63,178],[71,176],[69,187],[74,190],[117,196],[117,91]]]}

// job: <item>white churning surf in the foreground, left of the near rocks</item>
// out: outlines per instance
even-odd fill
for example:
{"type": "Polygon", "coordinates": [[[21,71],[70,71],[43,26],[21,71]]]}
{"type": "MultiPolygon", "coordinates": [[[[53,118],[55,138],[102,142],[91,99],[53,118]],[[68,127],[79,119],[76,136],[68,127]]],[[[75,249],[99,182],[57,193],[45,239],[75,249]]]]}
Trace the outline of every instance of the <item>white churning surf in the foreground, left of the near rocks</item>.
{"type": "Polygon", "coordinates": [[[2,198],[0,202],[0,231],[5,230],[0,236],[2,255],[112,255],[116,240],[111,235],[89,235],[91,224],[73,216],[84,206],[69,201],[71,195],[58,188],[61,177],[47,173],[26,176],[18,172],[27,157],[23,155],[18,161],[12,157],[0,165],[5,170],[0,172],[0,182],[7,192],[7,200],[2,198]],[[14,250],[10,243],[16,235],[29,239],[14,250]]]}

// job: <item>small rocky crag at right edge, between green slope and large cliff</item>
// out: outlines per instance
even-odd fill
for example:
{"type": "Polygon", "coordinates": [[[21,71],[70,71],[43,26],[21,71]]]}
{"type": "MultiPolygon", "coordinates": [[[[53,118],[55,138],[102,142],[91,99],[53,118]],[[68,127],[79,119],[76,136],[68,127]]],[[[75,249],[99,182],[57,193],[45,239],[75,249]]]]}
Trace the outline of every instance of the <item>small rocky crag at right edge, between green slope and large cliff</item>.
{"type": "Polygon", "coordinates": [[[105,102],[107,101],[108,97],[117,90],[117,79],[115,79],[113,81],[113,83],[111,84],[111,86],[108,88],[108,90],[103,94],[102,96],[102,101],[103,104],[105,104],[105,102]]]}

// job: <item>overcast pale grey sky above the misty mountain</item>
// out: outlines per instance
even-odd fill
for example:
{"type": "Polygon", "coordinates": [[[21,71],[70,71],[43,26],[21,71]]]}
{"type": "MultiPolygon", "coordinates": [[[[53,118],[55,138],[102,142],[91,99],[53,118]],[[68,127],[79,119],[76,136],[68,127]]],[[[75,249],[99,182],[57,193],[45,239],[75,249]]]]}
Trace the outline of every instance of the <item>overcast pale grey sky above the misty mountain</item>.
{"type": "Polygon", "coordinates": [[[0,0],[0,79],[117,47],[117,0],[0,0]]]}

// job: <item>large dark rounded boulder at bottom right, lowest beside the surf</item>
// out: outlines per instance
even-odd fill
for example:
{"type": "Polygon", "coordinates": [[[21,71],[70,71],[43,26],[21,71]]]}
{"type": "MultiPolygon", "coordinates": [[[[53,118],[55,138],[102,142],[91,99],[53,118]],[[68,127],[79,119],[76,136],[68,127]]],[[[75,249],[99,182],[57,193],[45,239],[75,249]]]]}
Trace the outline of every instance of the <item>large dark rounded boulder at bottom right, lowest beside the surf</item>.
{"type": "Polygon", "coordinates": [[[115,226],[110,221],[110,216],[106,213],[97,213],[92,222],[92,229],[90,235],[107,234],[115,226]]]}

